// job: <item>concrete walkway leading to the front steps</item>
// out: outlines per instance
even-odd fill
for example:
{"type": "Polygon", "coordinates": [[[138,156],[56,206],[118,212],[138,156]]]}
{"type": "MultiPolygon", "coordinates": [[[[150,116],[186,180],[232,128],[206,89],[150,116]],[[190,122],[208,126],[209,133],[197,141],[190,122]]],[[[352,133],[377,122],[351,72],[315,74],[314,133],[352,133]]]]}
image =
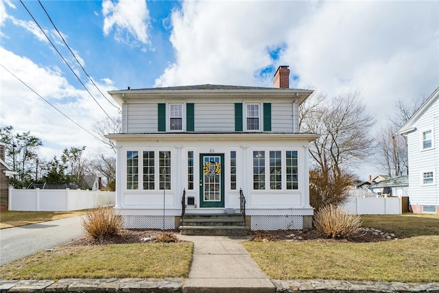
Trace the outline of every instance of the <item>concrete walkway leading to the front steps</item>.
{"type": "Polygon", "coordinates": [[[275,292],[276,288],[241,242],[245,237],[188,236],[193,260],[184,292],[275,292]]]}

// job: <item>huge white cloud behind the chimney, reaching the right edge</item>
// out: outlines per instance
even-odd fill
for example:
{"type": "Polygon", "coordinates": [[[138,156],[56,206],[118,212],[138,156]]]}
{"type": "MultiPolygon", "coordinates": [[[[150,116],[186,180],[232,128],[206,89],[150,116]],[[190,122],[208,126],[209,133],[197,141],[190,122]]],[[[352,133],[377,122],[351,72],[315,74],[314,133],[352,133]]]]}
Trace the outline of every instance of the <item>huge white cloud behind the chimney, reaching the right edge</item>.
{"type": "Polygon", "coordinates": [[[438,18],[437,1],[185,1],[171,16],[176,61],[155,86],[271,86],[260,69],[290,65],[290,86],[357,90],[380,124],[397,99],[438,86],[438,18]]]}

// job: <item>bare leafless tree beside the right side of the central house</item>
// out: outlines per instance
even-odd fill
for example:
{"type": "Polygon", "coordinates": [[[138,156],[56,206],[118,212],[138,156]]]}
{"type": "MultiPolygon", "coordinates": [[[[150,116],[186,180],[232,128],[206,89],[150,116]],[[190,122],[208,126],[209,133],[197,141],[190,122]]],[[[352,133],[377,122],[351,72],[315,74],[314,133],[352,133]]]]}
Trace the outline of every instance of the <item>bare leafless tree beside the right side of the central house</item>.
{"type": "MultiPolygon", "coordinates": [[[[319,95],[318,101],[326,97],[319,95]]],[[[366,112],[357,92],[334,97],[330,103],[311,105],[312,110],[302,110],[307,116],[301,117],[300,126],[303,132],[321,134],[309,149],[315,165],[340,176],[342,169],[353,167],[369,156],[373,149],[370,128],[375,121],[366,112]]]]}

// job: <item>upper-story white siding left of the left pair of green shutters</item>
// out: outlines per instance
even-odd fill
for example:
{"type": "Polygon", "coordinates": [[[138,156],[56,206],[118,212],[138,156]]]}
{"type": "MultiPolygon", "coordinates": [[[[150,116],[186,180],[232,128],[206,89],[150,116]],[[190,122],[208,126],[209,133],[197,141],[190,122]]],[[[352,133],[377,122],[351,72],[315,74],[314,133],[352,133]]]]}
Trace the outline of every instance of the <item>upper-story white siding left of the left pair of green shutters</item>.
{"type": "Polygon", "coordinates": [[[128,133],[157,132],[157,104],[128,104],[128,133]]]}

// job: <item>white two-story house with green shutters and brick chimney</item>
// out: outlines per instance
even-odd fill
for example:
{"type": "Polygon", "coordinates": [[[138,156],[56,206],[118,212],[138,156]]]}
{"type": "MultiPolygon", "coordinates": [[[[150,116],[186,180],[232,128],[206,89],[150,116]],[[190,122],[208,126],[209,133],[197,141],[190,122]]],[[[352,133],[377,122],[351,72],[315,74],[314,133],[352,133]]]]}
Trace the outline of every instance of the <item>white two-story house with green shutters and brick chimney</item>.
{"type": "Polygon", "coordinates": [[[128,228],[176,228],[182,214],[240,209],[252,229],[311,226],[309,142],[298,106],[312,91],[204,84],[110,91],[121,106],[116,205],[128,228]]]}

